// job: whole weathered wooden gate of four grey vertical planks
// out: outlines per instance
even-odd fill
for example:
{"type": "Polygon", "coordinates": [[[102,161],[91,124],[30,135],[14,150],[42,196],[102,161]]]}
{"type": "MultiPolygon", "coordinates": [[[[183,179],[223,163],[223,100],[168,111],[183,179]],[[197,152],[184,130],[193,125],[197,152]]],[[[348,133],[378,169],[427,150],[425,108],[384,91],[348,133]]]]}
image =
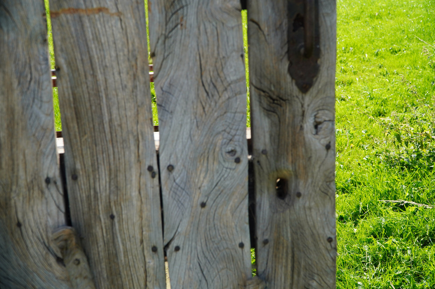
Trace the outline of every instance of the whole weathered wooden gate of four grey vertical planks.
{"type": "Polygon", "coordinates": [[[0,1],[0,288],[89,277],[64,225],[100,289],[335,288],[335,0],[247,1],[249,159],[241,2],[148,7],[157,154],[143,1],[50,1],[63,181],[43,1],[0,1]]]}

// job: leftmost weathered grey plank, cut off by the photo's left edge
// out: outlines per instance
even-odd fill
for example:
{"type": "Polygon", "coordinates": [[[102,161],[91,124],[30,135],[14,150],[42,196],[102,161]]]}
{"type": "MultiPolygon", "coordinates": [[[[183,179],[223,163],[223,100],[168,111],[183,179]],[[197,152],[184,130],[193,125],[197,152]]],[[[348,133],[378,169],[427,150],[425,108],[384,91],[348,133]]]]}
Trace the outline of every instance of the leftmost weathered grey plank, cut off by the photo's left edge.
{"type": "Polygon", "coordinates": [[[0,3],[0,288],[69,288],[44,3],[0,3]],[[60,257],[59,257],[60,258],[60,257]]]}

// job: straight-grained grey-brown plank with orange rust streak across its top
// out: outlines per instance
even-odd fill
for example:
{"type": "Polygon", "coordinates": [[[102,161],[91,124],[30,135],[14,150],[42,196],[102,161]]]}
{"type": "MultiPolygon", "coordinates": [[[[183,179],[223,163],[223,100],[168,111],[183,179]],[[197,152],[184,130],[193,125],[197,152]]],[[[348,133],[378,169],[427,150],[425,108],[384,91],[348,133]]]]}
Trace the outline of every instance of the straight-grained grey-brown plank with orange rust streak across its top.
{"type": "Polygon", "coordinates": [[[71,219],[95,285],[164,288],[144,3],[50,8],[71,219]]]}

